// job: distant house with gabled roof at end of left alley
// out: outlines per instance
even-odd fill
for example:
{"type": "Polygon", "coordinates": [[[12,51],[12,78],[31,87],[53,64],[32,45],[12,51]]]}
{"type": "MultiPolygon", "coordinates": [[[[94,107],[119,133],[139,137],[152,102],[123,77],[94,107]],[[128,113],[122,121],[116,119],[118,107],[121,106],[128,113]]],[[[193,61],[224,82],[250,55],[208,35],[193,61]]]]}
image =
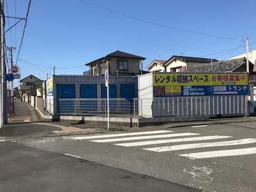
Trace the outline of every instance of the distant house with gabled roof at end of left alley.
{"type": "Polygon", "coordinates": [[[38,86],[39,84],[42,84],[42,80],[30,75],[28,77],[25,77],[23,79],[20,79],[20,84],[19,84],[19,93],[20,93],[20,97],[22,97],[22,95],[28,93],[30,88],[33,88],[35,86],[38,86]]]}

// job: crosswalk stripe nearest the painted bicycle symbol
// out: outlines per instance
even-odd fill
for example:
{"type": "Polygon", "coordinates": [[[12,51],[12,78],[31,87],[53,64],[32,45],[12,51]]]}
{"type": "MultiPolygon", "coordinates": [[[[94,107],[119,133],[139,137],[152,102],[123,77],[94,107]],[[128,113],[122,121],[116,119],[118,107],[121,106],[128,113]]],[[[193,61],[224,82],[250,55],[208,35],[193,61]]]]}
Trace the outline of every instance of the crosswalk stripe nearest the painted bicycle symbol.
{"type": "Polygon", "coordinates": [[[211,157],[243,156],[243,155],[250,155],[250,154],[256,154],[256,147],[239,148],[239,149],[231,149],[231,150],[213,150],[209,152],[179,154],[179,156],[193,157],[195,159],[204,159],[204,158],[211,158],[211,157]]]}

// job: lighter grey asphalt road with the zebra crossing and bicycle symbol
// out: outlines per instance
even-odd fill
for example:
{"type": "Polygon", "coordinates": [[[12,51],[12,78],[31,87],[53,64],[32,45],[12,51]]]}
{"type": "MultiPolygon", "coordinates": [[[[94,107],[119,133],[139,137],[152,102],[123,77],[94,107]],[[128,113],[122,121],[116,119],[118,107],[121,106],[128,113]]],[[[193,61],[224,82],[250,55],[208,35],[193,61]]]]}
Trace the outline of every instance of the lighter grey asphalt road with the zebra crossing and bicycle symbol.
{"type": "MultiPolygon", "coordinates": [[[[161,130],[157,129],[157,131],[161,130]]],[[[145,136],[138,135],[135,132],[137,135],[134,136],[111,136],[100,139],[81,139],[81,136],[61,136],[26,138],[17,140],[17,142],[58,154],[72,154],[72,156],[79,156],[87,161],[148,175],[157,179],[168,180],[205,191],[256,191],[255,122],[214,124],[205,125],[204,127],[176,127],[162,131],[173,132],[147,135],[153,136],[153,138],[131,138],[134,136],[145,136]],[[163,136],[166,134],[181,135],[163,136]],[[204,140],[195,139],[196,137],[212,136],[220,138],[210,138],[209,140],[205,138],[204,140]],[[116,138],[118,139],[117,141],[109,140],[106,143],[102,143],[103,141],[100,141],[101,143],[99,141],[92,141],[116,138]],[[171,140],[181,138],[190,139],[188,141],[171,140]],[[161,144],[154,143],[158,140],[170,141],[161,144]],[[150,143],[134,146],[134,143],[144,141],[149,141],[150,143]],[[246,143],[243,143],[244,141],[246,143]],[[202,147],[202,145],[205,145],[202,143],[211,143],[213,146],[202,147]],[[188,145],[184,148],[184,144],[189,144],[189,148],[188,145]],[[199,145],[200,147],[191,147],[194,145],[199,145]],[[167,147],[172,150],[166,152],[145,150],[145,148],[154,147],[167,147]],[[174,150],[172,147],[179,148],[179,150],[174,150]],[[183,147],[183,149],[180,149],[180,147],[183,147]],[[208,154],[209,152],[212,157],[205,157],[205,153],[208,154]],[[198,156],[199,158],[193,157],[194,154],[200,155],[198,156]],[[201,159],[201,157],[204,158],[201,159]]],[[[97,135],[102,137],[102,135],[106,134],[97,135]]]]}

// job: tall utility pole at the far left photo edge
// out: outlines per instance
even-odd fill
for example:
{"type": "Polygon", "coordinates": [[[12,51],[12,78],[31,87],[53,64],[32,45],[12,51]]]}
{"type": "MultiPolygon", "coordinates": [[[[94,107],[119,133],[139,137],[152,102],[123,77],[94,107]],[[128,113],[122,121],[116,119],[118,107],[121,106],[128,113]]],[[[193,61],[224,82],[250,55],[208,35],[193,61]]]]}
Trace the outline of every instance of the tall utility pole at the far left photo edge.
{"type": "Polygon", "coordinates": [[[0,4],[0,28],[1,28],[1,67],[0,67],[0,128],[3,127],[3,125],[6,123],[6,106],[5,106],[5,58],[4,58],[4,0],[1,0],[0,4]]]}

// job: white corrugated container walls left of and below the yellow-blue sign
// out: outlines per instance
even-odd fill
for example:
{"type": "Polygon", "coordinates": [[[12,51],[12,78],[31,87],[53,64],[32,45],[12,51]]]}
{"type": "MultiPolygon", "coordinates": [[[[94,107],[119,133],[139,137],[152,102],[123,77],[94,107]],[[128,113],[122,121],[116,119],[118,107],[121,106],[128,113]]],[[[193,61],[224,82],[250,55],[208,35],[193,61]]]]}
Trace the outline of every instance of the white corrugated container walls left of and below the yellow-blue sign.
{"type": "Polygon", "coordinates": [[[153,116],[232,116],[246,115],[247,95],[204,97],[153,97],[152,74],[138,77],[139,115],[153,116]]]}

